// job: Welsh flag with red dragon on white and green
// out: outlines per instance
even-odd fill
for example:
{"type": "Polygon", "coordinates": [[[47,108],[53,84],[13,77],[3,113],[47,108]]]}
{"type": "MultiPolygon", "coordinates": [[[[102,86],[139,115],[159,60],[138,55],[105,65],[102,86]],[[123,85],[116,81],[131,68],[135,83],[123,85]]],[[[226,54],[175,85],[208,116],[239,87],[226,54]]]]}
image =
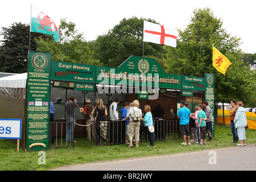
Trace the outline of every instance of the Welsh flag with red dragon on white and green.
{"type": "Polygon", "coordinates": [[[56,24],[43,11],[31,5],[30,32],[52,35],[54,42],[60,39],[60,33],[56,24]]]}

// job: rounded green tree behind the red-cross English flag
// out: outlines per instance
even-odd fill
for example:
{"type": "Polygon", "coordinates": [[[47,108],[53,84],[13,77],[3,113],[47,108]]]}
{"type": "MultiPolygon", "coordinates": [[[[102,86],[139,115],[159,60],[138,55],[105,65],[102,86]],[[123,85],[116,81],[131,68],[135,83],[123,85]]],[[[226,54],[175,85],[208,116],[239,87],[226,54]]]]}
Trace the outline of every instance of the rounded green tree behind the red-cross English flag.
{"type": "MultiPolygon", "coordinates": [[[[109,30],[108,34],[100,35],[96,39],[97,59],[105,66],[118,67],[131,55],[143,56],[143,18],[122,19],[119,24],[109,30]]],[[[147,19],[156,23],[155,20],[147,19]]],[[[144,55],[160,57],[164,49],[162,45],[144,43],[144,55]]]]}

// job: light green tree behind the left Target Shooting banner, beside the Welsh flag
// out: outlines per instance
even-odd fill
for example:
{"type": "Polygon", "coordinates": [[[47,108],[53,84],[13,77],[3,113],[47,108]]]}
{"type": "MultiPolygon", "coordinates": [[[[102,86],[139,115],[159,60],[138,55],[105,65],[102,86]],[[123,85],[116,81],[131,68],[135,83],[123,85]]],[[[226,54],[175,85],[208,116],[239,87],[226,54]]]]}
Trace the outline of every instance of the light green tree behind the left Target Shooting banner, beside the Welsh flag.
{"type": "Polygon", "coordinates": [[[52,39],[37,39],[38,51],[51,53],[51,59],[55,61],[100,65],[100,61],[94,58],[93,43],[82,38],[75,23],[61,19],[59,31],[60,40],[57,43],[52,39]]]}

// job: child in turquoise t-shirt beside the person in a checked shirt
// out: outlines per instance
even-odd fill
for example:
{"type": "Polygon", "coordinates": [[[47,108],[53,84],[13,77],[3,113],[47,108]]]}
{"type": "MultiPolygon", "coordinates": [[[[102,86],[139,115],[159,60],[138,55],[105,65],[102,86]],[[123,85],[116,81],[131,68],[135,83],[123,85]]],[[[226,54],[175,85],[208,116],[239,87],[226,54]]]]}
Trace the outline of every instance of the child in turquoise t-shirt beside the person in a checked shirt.
{"type": "Polygon", "coordinates": [[[206,144],[206,130],[205,130],[205,120],[207,120],[207,115],[203,111],[204,106],[199,105],[199,113],[198,113],[198,118],[197,118],[197,127],[199,128],[199,135],[200,135],[200,144],[203,145],[203,139],[204,139],[204,144],[206,144]]]}

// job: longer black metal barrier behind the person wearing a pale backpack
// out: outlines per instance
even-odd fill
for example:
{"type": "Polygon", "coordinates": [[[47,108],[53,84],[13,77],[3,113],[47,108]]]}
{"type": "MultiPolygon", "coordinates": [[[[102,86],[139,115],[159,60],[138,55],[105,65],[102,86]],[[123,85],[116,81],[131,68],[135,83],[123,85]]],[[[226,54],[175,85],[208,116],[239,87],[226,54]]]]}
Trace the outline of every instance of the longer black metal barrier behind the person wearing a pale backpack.
{"type": "MultiPolygon", "coordinates": [[[[155,127],[154,140],[180,139],[179,119],[154,120],[153,122],[155,127]]],[[[101,137],[99,123],[100,122],[96,122],[96,125],[94,125],[94,146],[126,142],[126,121],[105,121],[106,139],[102,139],[101,137]]],[[[141,122],[141,126],[142,125],[144,125],[144,122],[141,122]]],[[[146,133],[142,133],[140,141],[148,141],[146,133]]]]}

